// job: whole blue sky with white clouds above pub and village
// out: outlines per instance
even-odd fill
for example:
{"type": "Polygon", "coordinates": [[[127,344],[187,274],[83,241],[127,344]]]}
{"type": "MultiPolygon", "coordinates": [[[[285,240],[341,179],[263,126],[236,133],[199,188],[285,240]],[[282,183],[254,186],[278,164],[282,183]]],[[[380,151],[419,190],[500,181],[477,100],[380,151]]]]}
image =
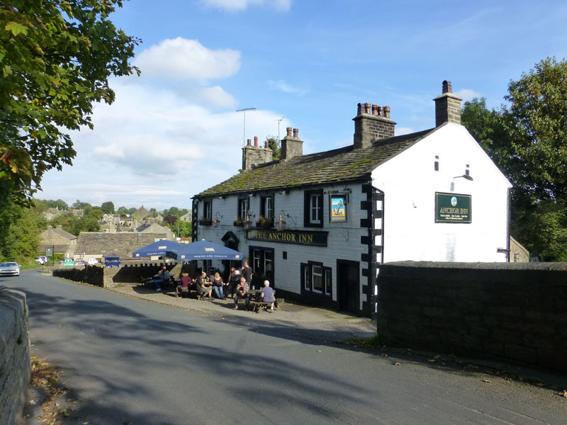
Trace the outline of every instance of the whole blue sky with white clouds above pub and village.
{"type": "Polygon", "coordinates": [[[245,139],[350,145],[366,102],[391,107],[396,135],[426,130],[443,80],[500,108],[511,80],[567,57],[564,0],[131,0],[111,19],[142,40],[142,74],[111,79],[116,101],[69,133],[73,165],[36,198],[189,209],[238,173],[245,139]]]}

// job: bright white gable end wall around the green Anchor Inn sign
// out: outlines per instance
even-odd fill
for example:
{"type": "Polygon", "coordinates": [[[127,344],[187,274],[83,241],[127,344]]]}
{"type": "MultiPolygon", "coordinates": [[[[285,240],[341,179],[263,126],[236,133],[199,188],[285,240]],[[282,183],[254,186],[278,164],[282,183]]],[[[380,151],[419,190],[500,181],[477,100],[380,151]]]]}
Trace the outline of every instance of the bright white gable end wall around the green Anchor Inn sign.
{"type": "Polygon", "coordinates": [[[372,181],[384,193],[383,261],[505,261],[511,185],[463,126],[432,130],[372,181]],[[471,196],[471,222],[435,222],[436,193],[471,196]]]}

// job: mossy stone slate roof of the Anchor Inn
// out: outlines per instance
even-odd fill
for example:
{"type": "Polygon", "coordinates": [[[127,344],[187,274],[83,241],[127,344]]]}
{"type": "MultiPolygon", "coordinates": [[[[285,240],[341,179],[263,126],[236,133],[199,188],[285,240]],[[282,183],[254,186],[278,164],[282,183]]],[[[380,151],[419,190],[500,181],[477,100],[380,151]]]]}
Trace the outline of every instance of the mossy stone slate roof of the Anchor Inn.
{"type": "Polygon", "coordinates": [[[354,149],[354,145],[349,145],[269,162],[236,174],[194,198],[365,179],[377,166],[415,145],[432,130],[389,137],[364,149],[354,149]]]}

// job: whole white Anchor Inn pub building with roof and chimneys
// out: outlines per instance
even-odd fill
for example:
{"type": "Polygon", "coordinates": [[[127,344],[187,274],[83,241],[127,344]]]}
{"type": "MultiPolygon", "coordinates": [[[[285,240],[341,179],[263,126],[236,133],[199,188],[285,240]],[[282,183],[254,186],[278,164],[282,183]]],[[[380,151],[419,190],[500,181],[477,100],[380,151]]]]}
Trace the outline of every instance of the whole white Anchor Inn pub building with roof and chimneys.
{"type": "MultiPolygon", "coordinates": [[[[370,317],[378,265],[508,261],[510,183],[461,125],[443,81],[436,126],[394,135],[388,106],[359,103],[354,142],[281,159],[248,140],[242,169],[193,197],[193,240],[237,249],[279,297],[370,317]]],[[[225,265],[228,267],[228,264],[225,265]]]]}

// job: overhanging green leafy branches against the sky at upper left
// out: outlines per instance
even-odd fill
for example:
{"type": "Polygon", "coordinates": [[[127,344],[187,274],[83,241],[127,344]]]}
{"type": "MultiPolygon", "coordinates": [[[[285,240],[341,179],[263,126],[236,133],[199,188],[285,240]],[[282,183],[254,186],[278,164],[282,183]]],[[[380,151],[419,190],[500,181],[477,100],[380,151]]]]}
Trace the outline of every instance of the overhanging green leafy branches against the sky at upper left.
{"type": "Polygon", "coordinates": [[[137,38],[108,16],[123,0],[0,4],[0,198],[30,204],[45,171],[72,164],[67,130],[93,128],[94,102],[114,101],[112,75],[136,72],[137,38]]]}

